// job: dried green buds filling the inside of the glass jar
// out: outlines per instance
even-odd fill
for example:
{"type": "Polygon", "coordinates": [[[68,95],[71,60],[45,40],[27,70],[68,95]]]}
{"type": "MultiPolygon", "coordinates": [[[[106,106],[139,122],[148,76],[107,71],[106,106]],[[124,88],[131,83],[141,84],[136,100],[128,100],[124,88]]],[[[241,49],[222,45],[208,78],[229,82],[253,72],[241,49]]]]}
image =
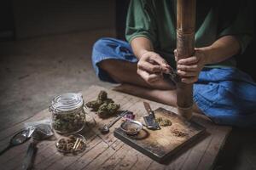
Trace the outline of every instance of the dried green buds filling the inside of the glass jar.
{"type": "Polygon", "coordinates": [[[83,112],[54,114],[52,126],[58,133],[73,133],[84,127],[83,112]]]}

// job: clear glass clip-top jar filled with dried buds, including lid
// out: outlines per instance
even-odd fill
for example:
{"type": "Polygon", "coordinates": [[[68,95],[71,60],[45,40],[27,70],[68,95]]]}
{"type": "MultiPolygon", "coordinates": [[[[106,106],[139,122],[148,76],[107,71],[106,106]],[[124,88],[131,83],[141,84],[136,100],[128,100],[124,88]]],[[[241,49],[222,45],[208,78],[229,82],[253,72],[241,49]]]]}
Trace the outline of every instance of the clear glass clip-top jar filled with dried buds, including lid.
{"type": "Polygon", "coordinates": [[[84,128],[85,112],[82,94],[61,94],[49,105],[52,127],[57,133],[78,133],[84,128]]]}

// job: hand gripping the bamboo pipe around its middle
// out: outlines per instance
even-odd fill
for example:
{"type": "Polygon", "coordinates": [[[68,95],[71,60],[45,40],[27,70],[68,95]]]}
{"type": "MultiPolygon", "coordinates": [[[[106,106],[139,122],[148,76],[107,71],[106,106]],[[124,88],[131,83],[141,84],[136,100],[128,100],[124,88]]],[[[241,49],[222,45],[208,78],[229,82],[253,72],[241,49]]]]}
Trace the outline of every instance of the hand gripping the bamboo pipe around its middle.
{"type": "Polygon", "coordinates": [[[177,50],[174,50],[177,61],[177,74],[185,83],[197,82],[200,71],[206,64],[206,54],[200,48],[195,48],[195,54],[186,59],[177,60],[177,50]]]}

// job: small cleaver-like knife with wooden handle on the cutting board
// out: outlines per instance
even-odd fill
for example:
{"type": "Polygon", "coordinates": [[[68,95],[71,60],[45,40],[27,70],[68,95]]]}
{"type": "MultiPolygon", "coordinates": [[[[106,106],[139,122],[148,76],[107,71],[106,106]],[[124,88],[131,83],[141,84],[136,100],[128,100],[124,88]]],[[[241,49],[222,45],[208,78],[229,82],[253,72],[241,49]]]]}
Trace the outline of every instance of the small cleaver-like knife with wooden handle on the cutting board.
{"type": "Polygon", "coordinates": [[[155,121],[154,111],[152,111],[150,105],[147,102],[143,102],[143,104],[148,113],[148,116],[143,116],[146,127],[152,130],[160,129],[160,125],[155,121]]]}

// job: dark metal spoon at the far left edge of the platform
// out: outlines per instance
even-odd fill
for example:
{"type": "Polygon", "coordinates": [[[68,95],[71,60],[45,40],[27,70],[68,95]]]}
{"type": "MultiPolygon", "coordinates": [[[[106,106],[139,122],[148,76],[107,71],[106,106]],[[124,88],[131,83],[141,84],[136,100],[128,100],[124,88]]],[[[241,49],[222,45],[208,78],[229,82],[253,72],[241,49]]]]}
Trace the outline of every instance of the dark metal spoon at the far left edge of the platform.
{"type": "Polygon", "coordinates": [[[3,150],[0,151],[0,156],[6,152],[7,150],[9,150],[11,147],[19,145],[19,144],[23,144],[24,142],[26,142],[26,140],[30,139],[30,137],[28,136],[28,130],[27,129],[23,129],[20,132],[16,133],[15,136],[13,136],[10,140],[9,140],[9,145],[4,148],[3,150]]]}

